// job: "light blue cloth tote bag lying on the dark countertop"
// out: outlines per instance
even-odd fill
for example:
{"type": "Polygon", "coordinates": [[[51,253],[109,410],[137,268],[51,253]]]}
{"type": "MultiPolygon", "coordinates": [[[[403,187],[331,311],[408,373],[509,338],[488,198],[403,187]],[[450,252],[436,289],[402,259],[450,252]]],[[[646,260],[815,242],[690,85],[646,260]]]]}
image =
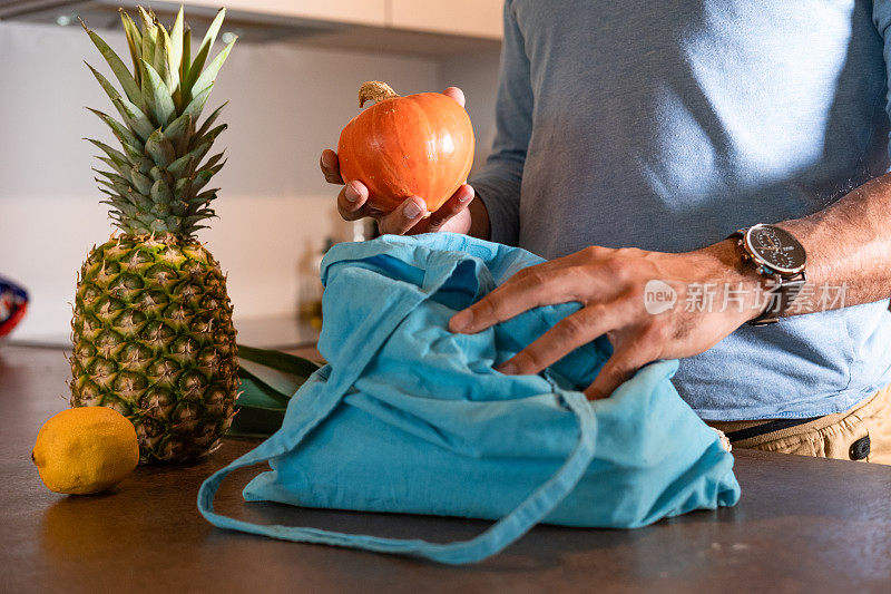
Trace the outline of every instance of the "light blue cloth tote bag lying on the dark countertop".
{"type": "Polygon", "coordinates": [[[212,524],[303,543],[472,563],[544,522],[634,528],[735,505],[733,457],[678,397],[677,361],[644,367],[610,398],[587,387],[609,356],[598,339],[539,376],[496,368],[578,304],[544,306],[478,334],[451,315],[541,262],[519,249],[438,233],[339,244],[325,256],[327,364],[287,406],[281,429],[210,476],[212,524]],[[248,502],[496,520],[458,543],[258,525],[216,514],[236,468],[268,461],[248,502]]]}

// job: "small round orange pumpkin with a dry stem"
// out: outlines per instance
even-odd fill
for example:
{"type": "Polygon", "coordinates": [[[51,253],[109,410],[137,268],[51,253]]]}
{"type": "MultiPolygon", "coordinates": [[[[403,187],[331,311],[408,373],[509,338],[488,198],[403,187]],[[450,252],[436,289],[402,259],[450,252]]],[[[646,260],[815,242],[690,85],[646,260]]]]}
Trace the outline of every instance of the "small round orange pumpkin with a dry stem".
{"type": "Polygon", "coordinates": [[[371,81],[359,90],[359,107],[337,144],[341,176],[369,188],[381,212],[420,196],[435,212],[467,181],[473,163],[473,126],[464,108],[441,92],[400,97],[371,81]]]}

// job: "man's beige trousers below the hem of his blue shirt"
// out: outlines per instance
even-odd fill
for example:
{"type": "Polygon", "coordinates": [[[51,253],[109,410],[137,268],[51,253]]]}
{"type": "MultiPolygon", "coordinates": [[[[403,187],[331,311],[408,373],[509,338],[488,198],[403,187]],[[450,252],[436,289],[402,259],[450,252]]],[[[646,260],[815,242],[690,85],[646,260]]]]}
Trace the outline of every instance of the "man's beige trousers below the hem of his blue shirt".
{"type": "MultiPolygon", "coordinates": [[[[730,434],[770,420],[706,422],[730,434]]],[[[891,465],[891,384],[844,412],[734,441],[733,447],[891,465]]]]}

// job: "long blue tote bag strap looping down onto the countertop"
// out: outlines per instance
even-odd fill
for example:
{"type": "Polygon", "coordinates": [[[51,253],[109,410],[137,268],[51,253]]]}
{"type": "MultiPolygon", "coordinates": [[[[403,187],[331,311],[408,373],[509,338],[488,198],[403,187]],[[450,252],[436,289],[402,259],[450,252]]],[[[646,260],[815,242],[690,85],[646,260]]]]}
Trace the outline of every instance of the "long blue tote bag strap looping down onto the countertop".
{"type": "MultiPolygon", "coordinates": [[[[578,421],[578,441],[562,466],[547,481],[536,488],[520,505],[491,527],[470,541],[456,543],[429,543],[420,539],[382,538],[378,536],[345,534],[320,528],[262,525],[223,516],[214,512],[214,496],[223,479],[237,468],[253,466],[286,451],[294,451],[303,439],[321,423],[341,402],[353,382],[371,361],[373,354],[395,330],[396,325],[420,303],[433,294],[449,279],[458,265],[457,261],[430,262],[423,286],[413,293],[412,299],[394,303],[390,311],[381,312],[371,334],[354,332],[354,337],[365,337],[361,343],[344,344],[349,352],[356,353],[349,370],[334,370],[326,389],[298,418],[286,417],[291,431],[280,429],[273,437],[256,449],[245,454],[225,468],[207,478],[198,490],[198,509],[215,526],[258,534],[297,543],[316,543],[350,548],[361,548],[379,553],[412,555],[439,563],[463,564],[481,561],[493,555],[529,532],[545,519],[567,495],[572,493],[585,475],[595,456],[597,420],[585,395],[567,391],[560,395],[562,402],[571,410],[578,421]],[[434,272],[435,271],[435,272],[434,272]],[[434,272],[433,274],[431,274],[434,272]],[[354,348],[353,348],[354,347],[354,348]]],[[[361,330],[361,329],[359,329],[361,330]]],[[[347,343],[353,341],[347,341],[347,343]]],[[[312,380],[311,380],[312,381],[312,380]]]]}

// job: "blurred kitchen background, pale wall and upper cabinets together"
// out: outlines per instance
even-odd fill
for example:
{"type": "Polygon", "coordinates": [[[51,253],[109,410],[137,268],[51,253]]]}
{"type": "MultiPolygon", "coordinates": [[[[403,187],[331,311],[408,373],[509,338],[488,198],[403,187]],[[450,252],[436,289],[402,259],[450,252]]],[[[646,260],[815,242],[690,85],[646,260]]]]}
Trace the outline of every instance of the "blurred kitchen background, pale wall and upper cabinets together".
{"type": "MultiPolygon", "coordinates": [[[[14,340],[65,343],[76,271],[111,233],[92,179],[96,150],[82,138],[110,143],[85,107],[114,109],[84,60],[110,74],[77,17],[125,55],[116,7],[136,3],[0,0],[0,276],[31,296],[14,340]]],[[[168,26],[179,6],[144,4],[168,26]]],[[[185,6],[195,37],[219,4],[185,6]]],[[[326,238],[352,238],[319,157],[359,113],[363,81],[385,80],[402,95],[461,87],[477,134],[474,168],[482,164],[495,127],[501,0],[225,6],[223,40],[239,41],[205,114],[229,101],[221,118],[229,127],[217,140],[228,162],[213,181],[219,218],[199,240],[228,273],[236,324],[275,329],[295,318],[301,294],[311,295],[326,238]]]]}

